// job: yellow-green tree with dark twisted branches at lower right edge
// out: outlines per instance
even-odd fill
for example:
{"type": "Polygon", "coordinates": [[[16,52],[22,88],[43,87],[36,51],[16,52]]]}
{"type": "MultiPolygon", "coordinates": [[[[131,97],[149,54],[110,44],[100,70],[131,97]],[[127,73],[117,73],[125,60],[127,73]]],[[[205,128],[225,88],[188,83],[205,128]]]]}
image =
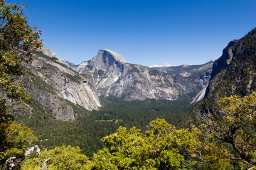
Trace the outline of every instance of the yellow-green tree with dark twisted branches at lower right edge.
{"type": "MultiPolygon", "coordinates": [[[[198,153],[212,169],[233,162],[256,165],[256,92],[242,98],[221,98],[219,117],[203,117],[198,153]]],[[[198,130],[200,132],[200,130],[198,130]]]]}

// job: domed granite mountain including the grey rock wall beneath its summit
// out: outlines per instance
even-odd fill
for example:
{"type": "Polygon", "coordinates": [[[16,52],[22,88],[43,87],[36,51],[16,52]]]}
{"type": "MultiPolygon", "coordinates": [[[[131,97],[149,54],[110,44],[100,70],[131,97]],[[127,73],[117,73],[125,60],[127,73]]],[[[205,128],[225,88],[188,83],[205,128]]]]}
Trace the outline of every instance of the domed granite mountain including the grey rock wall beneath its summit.
{"type": "Polygon", "coordinates": [[[82,62],[75,71],[92,74],[99,96],[114,96],[126,101],[146,98],[176,100],[181,95],[197,94],[201,90],[196,83],[184,79],[184,75],[171,75],[150,67],[129,64],[124,57],[111,50],[99,50],[92,60],[82,62]]]}

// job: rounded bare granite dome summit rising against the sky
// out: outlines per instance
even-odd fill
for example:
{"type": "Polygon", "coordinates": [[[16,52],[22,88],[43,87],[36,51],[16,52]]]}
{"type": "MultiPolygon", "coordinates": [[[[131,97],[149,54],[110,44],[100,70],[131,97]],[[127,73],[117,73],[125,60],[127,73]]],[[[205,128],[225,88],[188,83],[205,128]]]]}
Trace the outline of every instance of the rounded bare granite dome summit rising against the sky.
{"type": "Polygon", "coordinates": [[[99,50],[98,54],[92,58],[91,64],[97,69],[102,69],[104,71],[113,64],[114,62],[125,63],[126,60],[122,55],[112,50],[99,50]]]}

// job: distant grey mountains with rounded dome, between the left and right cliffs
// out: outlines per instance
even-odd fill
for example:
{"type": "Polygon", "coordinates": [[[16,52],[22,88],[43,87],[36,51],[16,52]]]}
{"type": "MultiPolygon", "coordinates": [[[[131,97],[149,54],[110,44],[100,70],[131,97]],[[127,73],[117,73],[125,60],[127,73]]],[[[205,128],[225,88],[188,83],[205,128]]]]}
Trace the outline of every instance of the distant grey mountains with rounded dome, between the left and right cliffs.
{"type": "MultiPolygon", "coordinates": [[[[75,65],[58,60],[79,74],[93,77],[98,96],[114,96],[126,101],[146,98],[176,100],[183,95],[196,97],[208,84],[213,61],[197,66],[145,67],[129,64],[112,50],[99,50],[92,60],[75,65]]],[[[201,95],[194,101],[200,101],[201,95]]],[[[191,99],[192,101],[192,99],[191,99]]]]}

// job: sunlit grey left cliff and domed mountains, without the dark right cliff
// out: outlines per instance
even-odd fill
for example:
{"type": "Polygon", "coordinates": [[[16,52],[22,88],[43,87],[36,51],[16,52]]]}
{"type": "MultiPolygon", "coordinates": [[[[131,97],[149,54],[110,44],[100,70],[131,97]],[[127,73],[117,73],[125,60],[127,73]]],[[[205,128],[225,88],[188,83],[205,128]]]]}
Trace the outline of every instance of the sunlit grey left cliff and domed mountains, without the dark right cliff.
{"type": "MultiPolygon", "coordinates": [[[[99,50],[92,60],[75,65],[43,47],[31,63],[24,63],[27,74],[23,86],[46,112],[67,121],[75,119],[69,102],[89,111],[97,110],[98,96],[114,96],[125,101],[195,97],[208,84],[212,63],[150,68],[129,64],[112,50],[99,50]]],[[[199,101],[201,96],[194,101],[199,101]]]]}

